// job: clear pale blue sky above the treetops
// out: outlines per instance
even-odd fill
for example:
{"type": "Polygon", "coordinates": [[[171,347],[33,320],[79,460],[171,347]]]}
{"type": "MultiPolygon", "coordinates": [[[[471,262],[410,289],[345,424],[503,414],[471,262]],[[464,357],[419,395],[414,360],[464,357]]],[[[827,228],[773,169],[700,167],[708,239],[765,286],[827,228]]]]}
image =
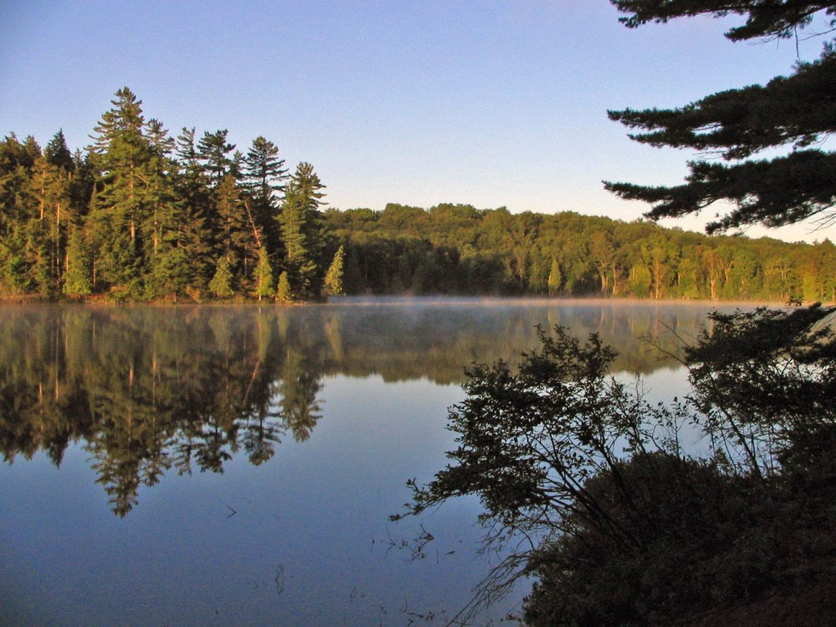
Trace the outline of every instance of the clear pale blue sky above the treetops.
{"type": "MultiPolygon", "coordinates": [[[[676,106],[788,74],[793,41],[737,20],[630,30],[607,0],[421,3],[0,0],[0,134],[71,149],[127,85],[146,118],[257,135],[309,161],[331,206],[470,203],[624,220],[602,180],[677,184],[687,151],[630,141],[607,109],[676,106]]],[[[820,39],[799,43],[818,57],[820,39]]],[[[665,221],[700,230],[703,218],[665,221]]],[[[809,226],[772,237],[836,239],[809,226]]],[[[751,229],[757,236],[762,230],[751,229]]]]}

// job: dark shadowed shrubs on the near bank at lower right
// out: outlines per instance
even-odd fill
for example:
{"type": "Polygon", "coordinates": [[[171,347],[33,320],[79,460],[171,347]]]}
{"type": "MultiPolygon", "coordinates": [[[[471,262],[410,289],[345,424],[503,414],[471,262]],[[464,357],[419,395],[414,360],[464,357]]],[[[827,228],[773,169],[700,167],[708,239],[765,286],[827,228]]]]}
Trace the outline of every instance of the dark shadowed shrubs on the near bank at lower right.
{"type": "Polygon", "coordinates": [[[832,624],[834,311],[711,314],[678,347],[691,395],[672,405],[612,377],[597,334],[474,366],[451,464],[407,505],[481,499],[505,558],[464,618],[534,576],[535,625],[832,624]],[[708,456],[683,449],[688,424],[708,456]]]}

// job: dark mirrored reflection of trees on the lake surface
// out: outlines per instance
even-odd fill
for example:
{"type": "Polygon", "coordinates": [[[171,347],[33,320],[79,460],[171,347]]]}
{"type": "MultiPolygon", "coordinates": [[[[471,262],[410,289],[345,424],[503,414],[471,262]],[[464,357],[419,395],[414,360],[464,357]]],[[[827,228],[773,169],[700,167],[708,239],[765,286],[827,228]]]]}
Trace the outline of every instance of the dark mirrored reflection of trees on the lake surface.
{"type": "MultiPolygon", "coordinates": [[[[89,452],[124,517],[166,472],[223,472],[242,452],[270,460],[307,441],[326,375],[458,384],[474,360],[515,361],[534,326],[599,332],[616,368],[647,373],[667,330],[687,336],[705,306],[653,303],[354,301],[303,308],[43,305],[0,310],[0,450],[89,452]],[[410,306],[414,305],[414,306],[410,306]]],[[[670,344],[670,348],[673,344],[670,344]]]]}

